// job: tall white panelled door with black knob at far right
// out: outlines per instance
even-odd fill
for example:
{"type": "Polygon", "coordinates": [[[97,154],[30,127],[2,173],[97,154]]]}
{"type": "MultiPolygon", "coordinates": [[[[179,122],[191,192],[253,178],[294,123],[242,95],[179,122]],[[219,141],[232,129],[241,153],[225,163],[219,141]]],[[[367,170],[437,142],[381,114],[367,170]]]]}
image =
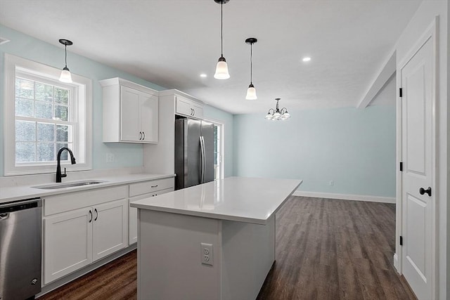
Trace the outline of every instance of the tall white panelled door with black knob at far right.
{"type": "Polygon", "coordinates": [[[433,44],[428,39],[401,68],[402,270],[418,299],[433,285],[433,44]],[[425,191],[430,191],[424,193],[425,191]]]}

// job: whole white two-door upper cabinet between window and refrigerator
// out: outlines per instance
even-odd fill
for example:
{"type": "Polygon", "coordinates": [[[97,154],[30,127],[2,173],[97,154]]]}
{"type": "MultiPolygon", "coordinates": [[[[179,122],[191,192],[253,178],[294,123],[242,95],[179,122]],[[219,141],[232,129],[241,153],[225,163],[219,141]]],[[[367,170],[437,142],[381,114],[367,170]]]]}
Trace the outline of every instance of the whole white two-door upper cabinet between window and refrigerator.
{"type": "Polygon", "coordinates": [[[122,78],[103,86],[103,142],[158,143],[158,91],[122,78]]]}

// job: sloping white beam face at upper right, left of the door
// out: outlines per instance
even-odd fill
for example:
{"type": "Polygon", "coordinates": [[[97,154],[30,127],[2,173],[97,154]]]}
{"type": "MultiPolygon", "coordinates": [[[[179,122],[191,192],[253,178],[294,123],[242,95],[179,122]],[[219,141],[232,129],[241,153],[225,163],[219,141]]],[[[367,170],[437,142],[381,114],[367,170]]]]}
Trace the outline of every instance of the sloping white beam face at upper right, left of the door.
{"type": "Polygon", "coordinates": [[[395,74],[395,67],[397,65],[397,51],[392,51],[389,58],[386,60],[385,65],[378,72],[377,77],[373,81],[371,87],[368,89],[366,96],[361,99],[356,107],[363,109],[366,108],[373,99],[380,93],[383,87],[387,84],[389,79],[395,74]]]}

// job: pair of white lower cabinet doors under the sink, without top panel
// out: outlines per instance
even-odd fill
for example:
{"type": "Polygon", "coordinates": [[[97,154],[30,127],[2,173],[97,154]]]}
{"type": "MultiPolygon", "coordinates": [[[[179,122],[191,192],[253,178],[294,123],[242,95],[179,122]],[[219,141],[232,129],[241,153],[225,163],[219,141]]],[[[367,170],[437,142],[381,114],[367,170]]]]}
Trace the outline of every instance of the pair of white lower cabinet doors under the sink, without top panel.
{"type": "Polygon", "coordinates": [[[44,217],[44,284],[127,247],[128,201],[44,217]]]}

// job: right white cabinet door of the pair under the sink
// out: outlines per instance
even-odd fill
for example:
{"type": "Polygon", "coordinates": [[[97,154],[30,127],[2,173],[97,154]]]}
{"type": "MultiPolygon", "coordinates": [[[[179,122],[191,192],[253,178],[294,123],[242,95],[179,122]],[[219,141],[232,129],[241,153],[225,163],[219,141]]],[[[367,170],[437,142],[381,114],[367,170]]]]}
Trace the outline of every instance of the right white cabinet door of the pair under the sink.
{"type": "Polygon", "coordinates": [[[94,207],[94,261],[127,247],[128,202],[116,200],[94,207]]]}

